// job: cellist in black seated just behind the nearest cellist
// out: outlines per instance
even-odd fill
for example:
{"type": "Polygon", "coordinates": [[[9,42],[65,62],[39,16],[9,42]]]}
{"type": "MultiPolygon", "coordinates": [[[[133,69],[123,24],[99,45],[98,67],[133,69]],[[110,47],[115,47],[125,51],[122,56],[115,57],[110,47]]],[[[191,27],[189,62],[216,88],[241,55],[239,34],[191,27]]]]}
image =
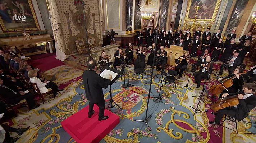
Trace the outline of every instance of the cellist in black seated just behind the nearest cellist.
{"type": "Polygon", "coordinates": [[[219,98],[221,98],[224,93],[236,93],[236,92],[238,92],[238,89],[240,91],[242,90],[243,76],[242,75],[238,75],[239,73],[242,73],[242,72],[243,72],[242,68],[236,68],[234,70],[234,74],[232,74],[232,75],[230,75],[228,77],[225,77],[225,78],[218,78],[218,81],[229,79],[229,78],[232,78],[232,80],[233,80],[233,85],[231,87],[227,88],[228,91],[226,89],[224,89],[223,92],[221,92],[219,98]]]}

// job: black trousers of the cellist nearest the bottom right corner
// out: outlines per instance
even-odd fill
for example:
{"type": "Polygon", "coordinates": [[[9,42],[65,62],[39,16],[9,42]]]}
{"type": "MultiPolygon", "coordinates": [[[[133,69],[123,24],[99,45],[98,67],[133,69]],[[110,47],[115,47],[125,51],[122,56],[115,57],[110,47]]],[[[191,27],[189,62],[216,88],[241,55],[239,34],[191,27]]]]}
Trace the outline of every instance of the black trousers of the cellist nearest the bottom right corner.
{"type": "Polygon", "coordinates": [[[220,109],[217,112],[217,115],[214,119],[214,121],[216,121],[217,123],[220,123],[221,119],[223,118],[223,115],[230,115],[234,118],[236,118],[236,107],[232,106],[232,107],[226,107],[224,109],[220,109]]]}

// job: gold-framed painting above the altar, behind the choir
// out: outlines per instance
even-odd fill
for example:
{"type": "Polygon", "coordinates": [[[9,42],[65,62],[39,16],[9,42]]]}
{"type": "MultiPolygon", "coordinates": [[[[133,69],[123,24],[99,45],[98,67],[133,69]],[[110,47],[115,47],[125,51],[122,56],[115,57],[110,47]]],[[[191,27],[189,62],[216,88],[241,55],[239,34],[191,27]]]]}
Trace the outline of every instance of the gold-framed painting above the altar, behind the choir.
{"type": "Polygon", "coordinates": [[[185,20],[195,19],[195,7],[198,6],[197,20],[214,21],[219,10],[220,2],[221,0],[188,0],[185,20]]]}

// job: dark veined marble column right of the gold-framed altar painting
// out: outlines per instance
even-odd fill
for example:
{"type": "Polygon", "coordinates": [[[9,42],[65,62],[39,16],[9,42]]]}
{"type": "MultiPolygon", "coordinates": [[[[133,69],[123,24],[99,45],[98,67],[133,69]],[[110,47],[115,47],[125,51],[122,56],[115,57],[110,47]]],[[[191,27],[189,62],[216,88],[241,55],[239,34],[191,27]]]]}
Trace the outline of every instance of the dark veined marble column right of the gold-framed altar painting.
{"type": "Polygon", "coordinates": [[[243,16],[244,8],[246,7],[249,0],[237,0],[228,21],[228,26],[224,36],[227,36],[231,33],[232,29],[237,29],[238,24],[243,16]]]}

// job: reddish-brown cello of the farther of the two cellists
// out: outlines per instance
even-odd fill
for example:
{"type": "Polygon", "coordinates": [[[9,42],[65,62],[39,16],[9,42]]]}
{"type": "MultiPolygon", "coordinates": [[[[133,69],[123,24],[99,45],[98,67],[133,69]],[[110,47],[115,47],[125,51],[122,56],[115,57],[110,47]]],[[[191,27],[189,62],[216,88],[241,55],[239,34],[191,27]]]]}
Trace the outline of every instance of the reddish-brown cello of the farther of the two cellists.
{"type": "MultiPolygon", "coordinates": [[[[242,75],[242,74],[245,74],[246,71],[244,71],[243,73],[238,73],[238,75],[242,75]]],[[[210,93],[214,96],[219,96],[221,92],[223,92],[224,89],[227,90],[227,88],[231,87],[234,83],[233,83],[233,79],[236,78],[236,75],[228,78],[228,79],[225,79],[223,80],[222,82],[219,81],[218,84],[212,86],[210,88],[210,93]]]]}

